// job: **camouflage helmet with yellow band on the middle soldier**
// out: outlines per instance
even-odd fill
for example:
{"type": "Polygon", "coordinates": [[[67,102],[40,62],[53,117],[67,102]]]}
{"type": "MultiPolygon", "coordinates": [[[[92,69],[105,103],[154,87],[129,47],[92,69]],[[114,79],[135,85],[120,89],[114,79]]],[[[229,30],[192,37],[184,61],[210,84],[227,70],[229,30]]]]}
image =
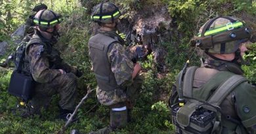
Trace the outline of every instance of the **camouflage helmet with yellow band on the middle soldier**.
{"type": "Polygon", "coordinates": [[[114,20],[117,20],[121,16],[119,8],[116,7],[113,3],[100,3],[93,8],[93,14],[91,19],[94,22],[100,23],[112,23],[114,20]]]}

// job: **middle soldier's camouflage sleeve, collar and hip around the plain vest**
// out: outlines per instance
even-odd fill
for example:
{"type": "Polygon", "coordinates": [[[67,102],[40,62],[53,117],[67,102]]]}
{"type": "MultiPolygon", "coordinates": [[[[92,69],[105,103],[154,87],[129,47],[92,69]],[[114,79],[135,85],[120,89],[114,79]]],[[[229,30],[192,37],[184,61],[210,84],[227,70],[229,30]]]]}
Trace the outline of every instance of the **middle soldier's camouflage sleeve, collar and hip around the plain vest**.
{"type": "MultiPolygon", "coordinates": [[[[100,31],[100,33],[107,35],[110,32],[100,31]]],[[[111,33],[115,32],[112,31],[111,33]]],[[[112,61],[111,70],[115,75],[117,84],[121,85],[121,89],[106,91],[98,87],[96,95],[102,105],[110,106],[127,101],[127,97],[133,97],[137,88],[139,88],[138,85],[141,85],[142,82],[140,76],[132,80],[133,62],[129,59],[127,50],[118,42],[112,43],[108,48],[108,60],[112,61]]]]}

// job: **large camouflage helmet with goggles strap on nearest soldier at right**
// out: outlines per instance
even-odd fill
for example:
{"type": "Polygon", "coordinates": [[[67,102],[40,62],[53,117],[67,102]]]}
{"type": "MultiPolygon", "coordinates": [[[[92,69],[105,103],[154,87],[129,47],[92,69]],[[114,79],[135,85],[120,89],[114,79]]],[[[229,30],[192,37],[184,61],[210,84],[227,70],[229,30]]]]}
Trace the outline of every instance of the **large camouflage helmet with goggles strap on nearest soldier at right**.
{"type": "Polygon", "coordinates": [[[200,28],[198,35],[192,39],[192,45],[213,54],[230,54],[250,38],[251,30],[245,22],[235,17],[219,16],[200,28]]]}

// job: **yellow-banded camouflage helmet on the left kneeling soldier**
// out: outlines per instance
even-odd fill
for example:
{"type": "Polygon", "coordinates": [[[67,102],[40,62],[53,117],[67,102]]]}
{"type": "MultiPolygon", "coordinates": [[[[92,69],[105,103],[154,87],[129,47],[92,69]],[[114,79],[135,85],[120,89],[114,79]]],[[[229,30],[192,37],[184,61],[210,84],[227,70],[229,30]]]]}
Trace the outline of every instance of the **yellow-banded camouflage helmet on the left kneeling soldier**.
{"type": "Polygon", "coordinates": [[[54,27],[61,22],[61,16],[53,10],[39,10],[33,19],[33,22],[40,27],[54,27]]]}

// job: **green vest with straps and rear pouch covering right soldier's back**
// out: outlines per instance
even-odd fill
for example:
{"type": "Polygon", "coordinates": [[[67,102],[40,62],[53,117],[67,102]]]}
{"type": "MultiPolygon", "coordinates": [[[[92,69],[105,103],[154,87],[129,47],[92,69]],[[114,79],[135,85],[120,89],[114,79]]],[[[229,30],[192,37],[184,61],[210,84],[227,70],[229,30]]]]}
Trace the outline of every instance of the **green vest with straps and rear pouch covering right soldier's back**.
{"type": "Polygon", "coordinates": [[[223,115],[220,108],[226,96],[245,81],[243,76],[228,71],[189,67],[181,85],[186,103],[184,106],[179,106],[179,103],[171,106],[176,133],[247,133],[241,122],[235,122],[237,120],[230,116],[226,118],[228,115],[223,115]],[[198,74],[207,74],[202,76],[208,78],[198,74]],[[205,84],[194,87],[202,81],[205,84]]]}

